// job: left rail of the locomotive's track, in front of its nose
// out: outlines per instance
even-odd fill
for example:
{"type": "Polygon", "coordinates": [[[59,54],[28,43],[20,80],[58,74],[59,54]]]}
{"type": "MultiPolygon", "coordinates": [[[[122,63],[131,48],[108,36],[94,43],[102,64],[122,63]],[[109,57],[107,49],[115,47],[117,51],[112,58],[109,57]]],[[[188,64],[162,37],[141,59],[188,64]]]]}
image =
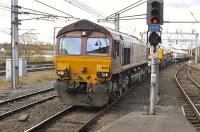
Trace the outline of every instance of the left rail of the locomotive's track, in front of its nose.
{"type": "Polygon", "coordinates": [[[42,122],[36,124],[35,126],[33,126],[33,127],[29,128],[29,129],[25,130],[24,132],[33,132],[33,131],[37,131],[37,130],[43,128],[44,126],[46,126],[47,124],[51,123],[52,121],[58,119],[61,115],[66,114],[67,112],[71,112],[71,111],[76,110],[76,108],[77,108],[77,107],[74,106],[74,105],[69,106],[69,107],[65,108],[64,110],[62,110],[62,111],[56,113],[55,115],[53,115],[53,116],[51,116],[51,117],[45,119],[44,121],[42,121],[42,122]]]}

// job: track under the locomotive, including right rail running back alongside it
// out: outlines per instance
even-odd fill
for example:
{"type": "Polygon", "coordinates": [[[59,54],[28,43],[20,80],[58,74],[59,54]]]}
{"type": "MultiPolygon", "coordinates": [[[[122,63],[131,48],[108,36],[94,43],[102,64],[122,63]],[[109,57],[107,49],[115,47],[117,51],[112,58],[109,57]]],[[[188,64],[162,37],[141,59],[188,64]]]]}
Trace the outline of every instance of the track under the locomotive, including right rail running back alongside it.
{"type": "Polygon", "coordinates": [[[25,131],[88,131],[88,129],[94,125],[102,115],[115,106],[136,85],[138,84],[133,85],[120,98],[107,104],[103,108],[88,109],[87,107],[69,106],[25,131]]]}

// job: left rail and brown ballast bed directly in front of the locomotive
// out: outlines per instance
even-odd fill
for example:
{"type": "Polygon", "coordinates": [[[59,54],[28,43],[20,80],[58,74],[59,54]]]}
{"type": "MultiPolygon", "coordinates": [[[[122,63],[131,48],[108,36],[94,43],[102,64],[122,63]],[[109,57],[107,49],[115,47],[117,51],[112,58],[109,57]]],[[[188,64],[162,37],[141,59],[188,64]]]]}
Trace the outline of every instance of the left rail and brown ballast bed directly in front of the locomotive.
{"type": "Polygon", "coordinates": [[[99,108],[69,106],[25,131],[80,131],[99,111],[99,108]]]}

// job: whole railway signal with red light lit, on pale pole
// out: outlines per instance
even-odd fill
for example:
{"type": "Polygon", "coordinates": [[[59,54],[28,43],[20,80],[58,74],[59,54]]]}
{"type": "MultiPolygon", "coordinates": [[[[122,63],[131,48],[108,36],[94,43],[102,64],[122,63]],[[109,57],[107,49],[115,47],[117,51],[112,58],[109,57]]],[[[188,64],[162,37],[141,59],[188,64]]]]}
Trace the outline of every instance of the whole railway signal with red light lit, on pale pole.
{"type": "Polygon", "coordinates": [[[147,1],[148,42],[151,45],[151,86],[149,114],[155,114],[155,104],[158,101],[158,56],[157,46],[161,43],[161,25],[163,24],[163,0],[147,1]]]}

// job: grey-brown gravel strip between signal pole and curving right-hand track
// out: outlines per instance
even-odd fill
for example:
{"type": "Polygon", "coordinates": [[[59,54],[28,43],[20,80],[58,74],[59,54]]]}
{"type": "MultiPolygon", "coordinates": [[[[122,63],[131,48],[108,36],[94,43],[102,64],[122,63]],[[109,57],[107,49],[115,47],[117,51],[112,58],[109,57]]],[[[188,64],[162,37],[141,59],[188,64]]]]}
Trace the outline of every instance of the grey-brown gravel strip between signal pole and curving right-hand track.
{"type": "Polygon", "coordinates": [[[171,65],[160,72],[159,108],[161,110],[166,108],[180,110],[183,98],[175,80],[175,73],[178,68],[179,65],[171,65]]]}

